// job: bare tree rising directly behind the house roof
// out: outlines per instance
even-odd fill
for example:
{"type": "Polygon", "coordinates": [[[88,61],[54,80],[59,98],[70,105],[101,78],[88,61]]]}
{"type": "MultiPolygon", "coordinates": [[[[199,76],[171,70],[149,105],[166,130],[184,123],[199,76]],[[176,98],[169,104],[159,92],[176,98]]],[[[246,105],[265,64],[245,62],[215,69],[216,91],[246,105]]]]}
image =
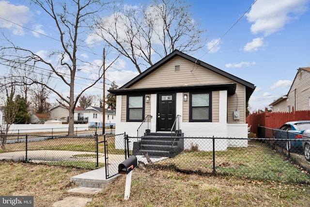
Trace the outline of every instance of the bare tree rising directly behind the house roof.
{"type": "Polygon", "coordinates": [[[141,65],[149,67],[175,49],[188,53],[203,47],[205,31],[190,17],[189,6],[183,0],[153,0],[145,8],[117,4],[94,30],[141,73],[141,65]]]}

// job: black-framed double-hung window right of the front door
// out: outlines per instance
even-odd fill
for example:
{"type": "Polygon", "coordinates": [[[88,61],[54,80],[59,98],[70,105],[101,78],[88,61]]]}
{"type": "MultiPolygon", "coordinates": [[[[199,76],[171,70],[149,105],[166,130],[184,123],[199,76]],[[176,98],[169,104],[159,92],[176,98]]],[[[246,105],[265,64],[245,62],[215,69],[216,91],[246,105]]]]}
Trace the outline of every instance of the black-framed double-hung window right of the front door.
{"type": "Polygon", "coordinates": [[[190,94],[190,122],[211,122],[211,93],[190,94]]]}

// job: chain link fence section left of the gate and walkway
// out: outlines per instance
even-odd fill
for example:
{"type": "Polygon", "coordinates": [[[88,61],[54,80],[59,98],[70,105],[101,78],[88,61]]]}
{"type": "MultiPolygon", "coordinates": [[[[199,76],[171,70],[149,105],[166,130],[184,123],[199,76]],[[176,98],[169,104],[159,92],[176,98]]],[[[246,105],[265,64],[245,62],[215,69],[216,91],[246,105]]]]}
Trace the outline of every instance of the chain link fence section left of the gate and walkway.
{"type": "Polygon", "coordinates": [[[98,136],[0,135],[1,160],[45,163],[85,169],[104,166],[97,153],[98,136]]]}

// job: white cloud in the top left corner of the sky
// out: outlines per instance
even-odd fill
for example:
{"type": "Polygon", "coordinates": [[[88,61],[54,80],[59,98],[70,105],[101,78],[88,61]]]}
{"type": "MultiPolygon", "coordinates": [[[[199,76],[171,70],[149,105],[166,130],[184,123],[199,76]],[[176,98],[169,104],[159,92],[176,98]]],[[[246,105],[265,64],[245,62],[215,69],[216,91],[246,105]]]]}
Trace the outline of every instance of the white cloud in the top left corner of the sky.
{"type": "Polygon", "coordinates": [[[31,13],[27,6],[10,4],[8,1],[0,1],[0,16],[8,21],[0,19],[0,27],[7,28],[15,35],[23,35],[24,30],[18,25],[24,25],[31,19],[31,13]],[[16,23],[16,24],[13,24],[16,23]]]}

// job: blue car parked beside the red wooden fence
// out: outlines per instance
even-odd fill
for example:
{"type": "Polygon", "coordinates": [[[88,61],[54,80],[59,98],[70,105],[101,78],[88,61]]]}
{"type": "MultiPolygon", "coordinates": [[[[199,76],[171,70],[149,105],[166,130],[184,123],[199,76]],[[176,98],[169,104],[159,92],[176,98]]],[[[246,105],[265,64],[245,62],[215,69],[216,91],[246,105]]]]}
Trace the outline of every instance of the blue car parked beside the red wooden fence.
{"type": "Polygon", "coordinates": [[[285,147],[287,151],[293,151],[296,148],[302,148],[303,133],[310,129],[310,120],[286,122],[279,130],[275,131],[274,138],[289,139],[294,141],[276,141],[277,144],[285,147]]]}

